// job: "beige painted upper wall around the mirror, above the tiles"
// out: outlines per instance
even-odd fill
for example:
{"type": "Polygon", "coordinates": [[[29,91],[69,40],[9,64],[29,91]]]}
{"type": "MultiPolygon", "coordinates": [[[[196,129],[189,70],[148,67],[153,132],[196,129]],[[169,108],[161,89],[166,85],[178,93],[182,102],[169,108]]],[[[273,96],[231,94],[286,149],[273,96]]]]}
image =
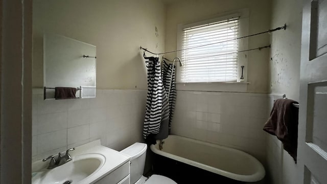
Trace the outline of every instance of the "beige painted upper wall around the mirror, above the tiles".
{"type": "Polygon", "coordinates": [[[44,30],[97,46],[97,88],[147,89],[139,46],[164,51],[165,13],[159,0],[34,0],[33,86],[43,86],[44,30]]]}

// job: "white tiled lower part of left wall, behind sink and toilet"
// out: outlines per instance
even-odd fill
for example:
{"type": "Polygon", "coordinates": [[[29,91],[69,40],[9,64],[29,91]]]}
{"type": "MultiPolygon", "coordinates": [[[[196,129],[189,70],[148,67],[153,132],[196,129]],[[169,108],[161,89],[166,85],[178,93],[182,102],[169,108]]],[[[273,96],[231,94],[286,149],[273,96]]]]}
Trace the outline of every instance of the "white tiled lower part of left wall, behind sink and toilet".
{"type": "Polygon", "coordinates": [[[97,98],[43,100],[33,94],[33,160],[101,139],[121,150],[143,141],[146,90],[101,90],[97,98]]]}

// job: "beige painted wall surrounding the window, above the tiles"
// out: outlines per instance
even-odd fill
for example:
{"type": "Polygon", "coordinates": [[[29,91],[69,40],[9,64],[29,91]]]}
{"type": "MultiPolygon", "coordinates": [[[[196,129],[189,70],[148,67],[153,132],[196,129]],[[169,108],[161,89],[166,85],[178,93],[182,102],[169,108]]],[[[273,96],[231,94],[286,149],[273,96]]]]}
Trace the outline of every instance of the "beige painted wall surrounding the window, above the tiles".
{"type": "MultiPolygon", "coordinates": [[[[168,1],[166,19],[166,41],[165,51],[176,50],[177,48],[177,25],[188,24],[215,18],[218,14],[248,8],[249,34],[266,31],[270,28],[270,1],[168,1]]],[[[284,23],[282,24],[284,25],[284,23]]],[[[281,26],[281,25],[279,25],[281,26]]],[[[269,45],[269,35],[259,35],[249,38],[249,49],[269,45]]],[[[248,80],[247,92],[268,93],[268,62],[269,50],[251,51],[248,53],[248,80]]],[[[174,58],[176,55],[167,55],[174,58]]]]}

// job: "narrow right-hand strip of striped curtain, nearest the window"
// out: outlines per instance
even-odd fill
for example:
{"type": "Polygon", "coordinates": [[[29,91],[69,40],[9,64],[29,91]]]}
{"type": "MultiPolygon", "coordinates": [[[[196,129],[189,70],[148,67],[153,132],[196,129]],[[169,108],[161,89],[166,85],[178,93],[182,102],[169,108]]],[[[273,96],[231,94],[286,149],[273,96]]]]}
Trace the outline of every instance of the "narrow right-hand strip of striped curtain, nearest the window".
{"type": "Polygon", "coordinates": [[[162,81],[169,97],[169,130],[171,129],[176,104],[175,65],[162,62],[162,81]]]}

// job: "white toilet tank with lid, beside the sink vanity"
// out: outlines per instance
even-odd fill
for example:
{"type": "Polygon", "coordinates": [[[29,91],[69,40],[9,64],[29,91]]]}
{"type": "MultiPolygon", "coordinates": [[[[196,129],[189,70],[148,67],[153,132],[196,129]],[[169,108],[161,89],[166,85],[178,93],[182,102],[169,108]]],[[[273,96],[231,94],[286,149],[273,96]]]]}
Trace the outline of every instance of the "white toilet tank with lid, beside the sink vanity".
{"type": "Polygon", "coordinates": [[[131,157],[130,165],[130,183],[135,183],[142,177],[145,165],[147,145],[144,143],[134,143],[131,146],[123,149],[124,153],[131,157]]]}

